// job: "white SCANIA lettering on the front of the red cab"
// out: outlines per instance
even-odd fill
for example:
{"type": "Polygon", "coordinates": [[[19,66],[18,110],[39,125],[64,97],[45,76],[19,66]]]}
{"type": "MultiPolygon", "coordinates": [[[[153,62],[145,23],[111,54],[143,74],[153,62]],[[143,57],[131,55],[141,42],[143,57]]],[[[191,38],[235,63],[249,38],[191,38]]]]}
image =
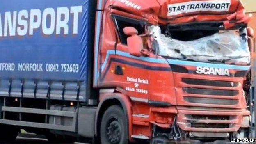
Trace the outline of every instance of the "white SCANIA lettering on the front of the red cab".
{"type": "Polygon", "coordinates": [[[209,68],[198,66],[196,70],[197,74],[205,74],[205,75],[227,75],[230,76],[229,69],[221,69],[221,68],[209,68]]]}

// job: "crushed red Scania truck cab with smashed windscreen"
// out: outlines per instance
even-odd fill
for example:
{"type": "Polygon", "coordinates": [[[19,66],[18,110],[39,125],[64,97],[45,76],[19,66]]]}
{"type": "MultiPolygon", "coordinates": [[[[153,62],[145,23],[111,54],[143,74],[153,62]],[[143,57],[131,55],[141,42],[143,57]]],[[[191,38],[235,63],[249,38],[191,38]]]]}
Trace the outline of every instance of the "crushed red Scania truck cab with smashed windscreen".
{"type": "MultiPolygon", "coordinates": [[[[99,105],[122,107],[127,139],[248,136],[253,32],[240,0],[99,0],[97,10],[94,87],[99,105]]],[[[106,121],[96,123],[101,139],[104,126],[119,127],[106,121]]]]}

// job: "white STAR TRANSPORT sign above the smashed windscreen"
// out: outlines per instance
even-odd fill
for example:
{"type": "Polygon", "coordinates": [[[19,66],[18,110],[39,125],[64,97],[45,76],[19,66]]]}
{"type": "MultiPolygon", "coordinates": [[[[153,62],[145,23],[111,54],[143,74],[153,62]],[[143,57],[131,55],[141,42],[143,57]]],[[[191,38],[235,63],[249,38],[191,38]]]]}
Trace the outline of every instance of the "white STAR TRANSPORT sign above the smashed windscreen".
{"type": "Polygon", "coordinates": [[[182,13],[191,13],[196,11],[229,11],[230,0],[208,0],[208,1],[190,1],[179,4],[168,5],[167,16],[175,16],[182,13]]]}

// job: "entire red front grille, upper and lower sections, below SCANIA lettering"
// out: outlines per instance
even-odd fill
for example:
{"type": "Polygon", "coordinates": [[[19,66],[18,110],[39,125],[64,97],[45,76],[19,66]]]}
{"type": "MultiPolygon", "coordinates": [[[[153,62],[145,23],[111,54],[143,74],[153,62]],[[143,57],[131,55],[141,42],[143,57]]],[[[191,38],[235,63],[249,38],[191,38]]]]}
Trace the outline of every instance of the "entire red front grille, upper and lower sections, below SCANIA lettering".
{"type": "Polygon", "coordinates": [[[182,130],[193,132],[239,130],[243,115],[242,112],[233,109],[242,108],[242,78],[176,74],[174,79],[179,105],[177,121],[182,130]],[[191,110],[188,107],[198,108],[191,110]],[[220,108],[223,110],[219,110],[220,108]]]}

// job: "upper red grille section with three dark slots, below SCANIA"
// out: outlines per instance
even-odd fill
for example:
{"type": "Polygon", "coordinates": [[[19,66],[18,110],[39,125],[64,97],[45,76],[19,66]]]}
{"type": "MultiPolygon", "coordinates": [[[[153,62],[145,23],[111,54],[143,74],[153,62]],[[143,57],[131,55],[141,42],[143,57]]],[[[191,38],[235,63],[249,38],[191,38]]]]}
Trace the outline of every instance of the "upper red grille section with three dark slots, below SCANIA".
{"type": "MultiPolygon", "coordinates": [[[[208,77],[205,77],[208,78],[208,77]]],[[[240,103],[242,79],[233,81],[179,78],[179,105],[233,108],[240,103]]]]}

